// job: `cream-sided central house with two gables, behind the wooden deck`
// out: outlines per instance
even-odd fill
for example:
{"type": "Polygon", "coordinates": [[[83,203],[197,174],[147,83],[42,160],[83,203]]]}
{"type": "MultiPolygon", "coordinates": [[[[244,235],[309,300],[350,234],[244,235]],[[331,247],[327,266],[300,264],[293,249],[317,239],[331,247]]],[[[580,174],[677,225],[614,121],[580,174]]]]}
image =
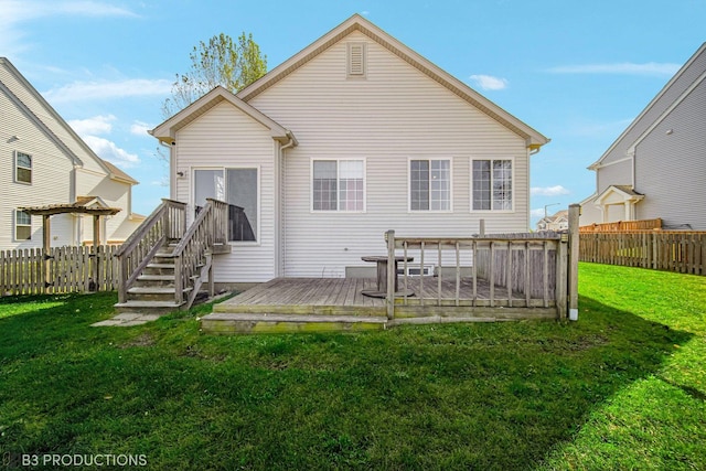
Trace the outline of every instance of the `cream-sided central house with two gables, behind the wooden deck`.
{"type": "Polygon", "coordinates": [[[530,158],[548,139],[353,15],[233,95],[151,131],[189,217],[231,204],[218,282],[343,277],[384,233],[527,232],[530,158]]]}

